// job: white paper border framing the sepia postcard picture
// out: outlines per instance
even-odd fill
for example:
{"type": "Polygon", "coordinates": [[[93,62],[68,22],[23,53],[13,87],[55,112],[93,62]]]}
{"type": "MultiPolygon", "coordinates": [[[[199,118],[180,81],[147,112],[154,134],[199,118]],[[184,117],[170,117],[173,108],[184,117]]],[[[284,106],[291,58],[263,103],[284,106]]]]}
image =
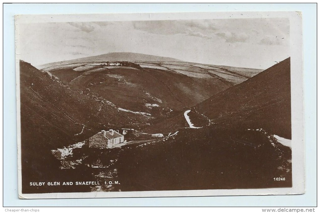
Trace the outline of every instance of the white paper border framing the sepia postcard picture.
{"type": "Polygon", "coordinates": [[[216,195],[290,195],[305,192],[305,146],[303,117],[303,56],[302,19],[300,12],[214,12],[214,13],[139,13],[139,14],[82,14],[82,15],[18,15],[17,23],[29,18],[37,22],[72,21],[132,21],[132,20],[175,20],[211,18],[289,18],[291,43],[291,107],[292,107],[292,188],[265,189],[219,189],[181,191],[141,191],[141,192],[88,192],[88,193],[48,193],[22,194],[21,191],[21,136],[20,136],[20,84],[19,84],[19,39],[16,40],[17,79],[17,140],[18,140],[18,184],[20,198],[97,198],[97,197],[170,197],[170,196],[216,196],[216,195]],[[28,18],[26,18],[28,17],[28,18]],[[297,163],[299,162],[299,163],[297,163]]]}

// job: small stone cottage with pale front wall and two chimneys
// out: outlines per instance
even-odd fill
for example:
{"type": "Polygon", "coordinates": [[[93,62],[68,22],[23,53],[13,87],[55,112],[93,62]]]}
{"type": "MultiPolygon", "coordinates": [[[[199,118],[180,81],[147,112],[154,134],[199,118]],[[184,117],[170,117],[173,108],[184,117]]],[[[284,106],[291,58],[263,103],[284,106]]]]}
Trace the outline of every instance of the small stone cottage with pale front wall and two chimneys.
{"type": "Polygon", "coordinates": [[[113,129],[110,129],[109,131],[102,130],[90,137],[87,142],[89,143],[89,147],[100,149],[112,148],[118,143],[123,143],[124,136],[113,129]]]}

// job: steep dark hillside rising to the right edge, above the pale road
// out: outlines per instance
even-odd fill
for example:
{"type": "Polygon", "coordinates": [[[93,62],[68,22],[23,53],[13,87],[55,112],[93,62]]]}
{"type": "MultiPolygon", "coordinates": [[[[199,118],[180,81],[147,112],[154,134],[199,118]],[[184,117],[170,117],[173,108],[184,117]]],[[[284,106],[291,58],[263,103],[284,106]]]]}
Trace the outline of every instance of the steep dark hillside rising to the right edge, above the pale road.
{"type": "Polygon", "coordinates": [[[196,105],[212,124],[262,128],[291,139],[290,58],[196,105]]]}

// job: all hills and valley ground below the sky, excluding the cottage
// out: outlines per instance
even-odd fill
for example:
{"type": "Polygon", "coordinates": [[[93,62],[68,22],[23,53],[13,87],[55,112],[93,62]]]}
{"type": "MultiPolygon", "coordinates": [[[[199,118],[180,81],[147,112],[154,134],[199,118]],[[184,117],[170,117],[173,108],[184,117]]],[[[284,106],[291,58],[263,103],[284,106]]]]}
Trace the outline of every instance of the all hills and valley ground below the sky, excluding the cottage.
{"type": "Polygon", "coordinates": [[[21,61],[20,96],[24,193],[292,186],[290,58],[264,71],[132,53],[21,61]],[[88,145],[112,129],[124,142],[88,145]],[[121,184],[28,186],[79,177],[121,184]]]}

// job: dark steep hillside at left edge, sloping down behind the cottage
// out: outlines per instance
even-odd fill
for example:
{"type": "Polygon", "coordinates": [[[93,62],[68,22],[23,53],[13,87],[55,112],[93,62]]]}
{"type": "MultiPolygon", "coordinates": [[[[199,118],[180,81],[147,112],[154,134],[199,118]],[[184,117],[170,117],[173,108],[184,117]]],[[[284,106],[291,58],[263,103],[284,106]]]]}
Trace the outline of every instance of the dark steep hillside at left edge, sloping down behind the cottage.
{"type": "Polygon", "coordinates": [[[47,167],[57,166],[51,149],[139,119],[138,115],[130,114],[129,118],[127,114],[106,99],[71,90],[50,73],[20,61],[22,172],[30,178],[23,181],[50,176],[47,167]]]}

